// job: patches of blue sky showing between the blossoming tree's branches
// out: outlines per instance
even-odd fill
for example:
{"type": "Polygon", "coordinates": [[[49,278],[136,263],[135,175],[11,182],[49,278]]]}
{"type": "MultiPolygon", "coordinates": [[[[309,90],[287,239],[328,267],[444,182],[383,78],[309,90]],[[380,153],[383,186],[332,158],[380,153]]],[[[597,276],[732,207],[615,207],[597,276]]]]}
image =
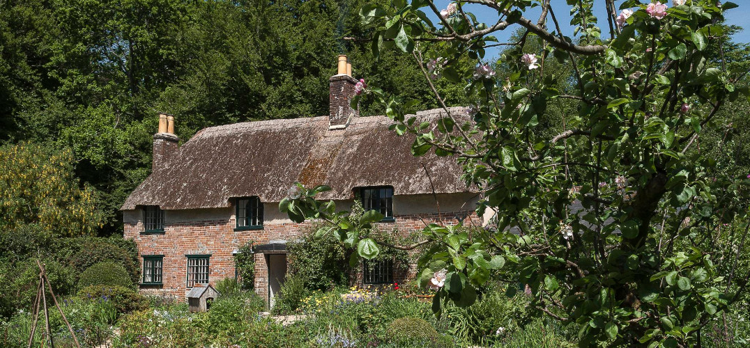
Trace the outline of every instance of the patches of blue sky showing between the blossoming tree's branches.
{"type": "MultiPolygon", "coordinates": [[[[664,0],[662,0],[664,1],[664,0]]],[[[448,4],[452,2],[449,0],[435,0],[435,5],[438,9],[446,8],[448,4]]],[[[616,1],[616,6],[619,8],[619,4],[621,4],[623,1],[618,0],[616,1]]],[[[643,1],[645,2],[645,1],[643,1]]],[[[745,30],[740,31],[739,33],[735,34],[733,36],[733,40],[740,43],[750,43],[750,16],[746,13],[748,10],[750,10],[750,4],[747,4],[746,0],[734,0],[736,4],[739,4],[739,7],[728,10],[726,13],[727,22],[729,24],[733,25],[739,25],[742,28],[745,28],[745,30]],[[743,4],[744,3],[744,4],[743,4]]],[[[570,25],[570,13],[569,8],[567,5],[565,5],[565,1],[563,0],[552,0],[553,6],[557,6],[562,11],[557,10],[555,11],[555,16],[557,17],[558,22],[560,23],[560,26],[562,27],[563,34],[566,36],[572,36],[573,34],[573,27],[570,25]]],[[[672,5],[672,1],[667,1],[667,4],[669,6],[672,5]]],[[[553,7],[556,8],[556,7],[553,7]]],[[[423,10],[425,10],[426,13],[428,13],[428,16],[430,17],[433,22],[436,24],[439,22],[437,20],[437,16],[434,15],[434,13],[431,13],[429,7],[425,7],[423,10]]],[[[489,10],[487,7],[476,5],[476,4],[468,4],[464,5],[463,10],[469,11],[474,13],[474,15],[477,17],[477,19],[481,22],[487,23],[487,25],[494,24],[497,20],[497,12],[493,10],[489,10]]],[[[539,14],[541,13],[541,10],[539,7],[534,7],[532,9],[526,10],[526,13],[523,13],[523,16],[526,18],[532,19],[532,21],[536,21],[536,19],[539,18],[539,14]]],[[[606,11],[604,10],[604,1],[594,1],[594,14],[599,19],[599,28],[604,33],[609,32],[609,26],[607,22],[605,22],[606,19],[606,11]]],[[[508,38],[511,36],[513,31],[518,28],[518,25],[511,25],[510,27],[506,28],[504,31],[496,31],[493,33],[495,37],[497,37],[500,42],[507,42],[508,38]]],[[[499,50],[501,48],[495,47],[493,49],[487,50],[487,56],[485,56],[486,59],[496,57],[499,55],[499,50]]]]}

